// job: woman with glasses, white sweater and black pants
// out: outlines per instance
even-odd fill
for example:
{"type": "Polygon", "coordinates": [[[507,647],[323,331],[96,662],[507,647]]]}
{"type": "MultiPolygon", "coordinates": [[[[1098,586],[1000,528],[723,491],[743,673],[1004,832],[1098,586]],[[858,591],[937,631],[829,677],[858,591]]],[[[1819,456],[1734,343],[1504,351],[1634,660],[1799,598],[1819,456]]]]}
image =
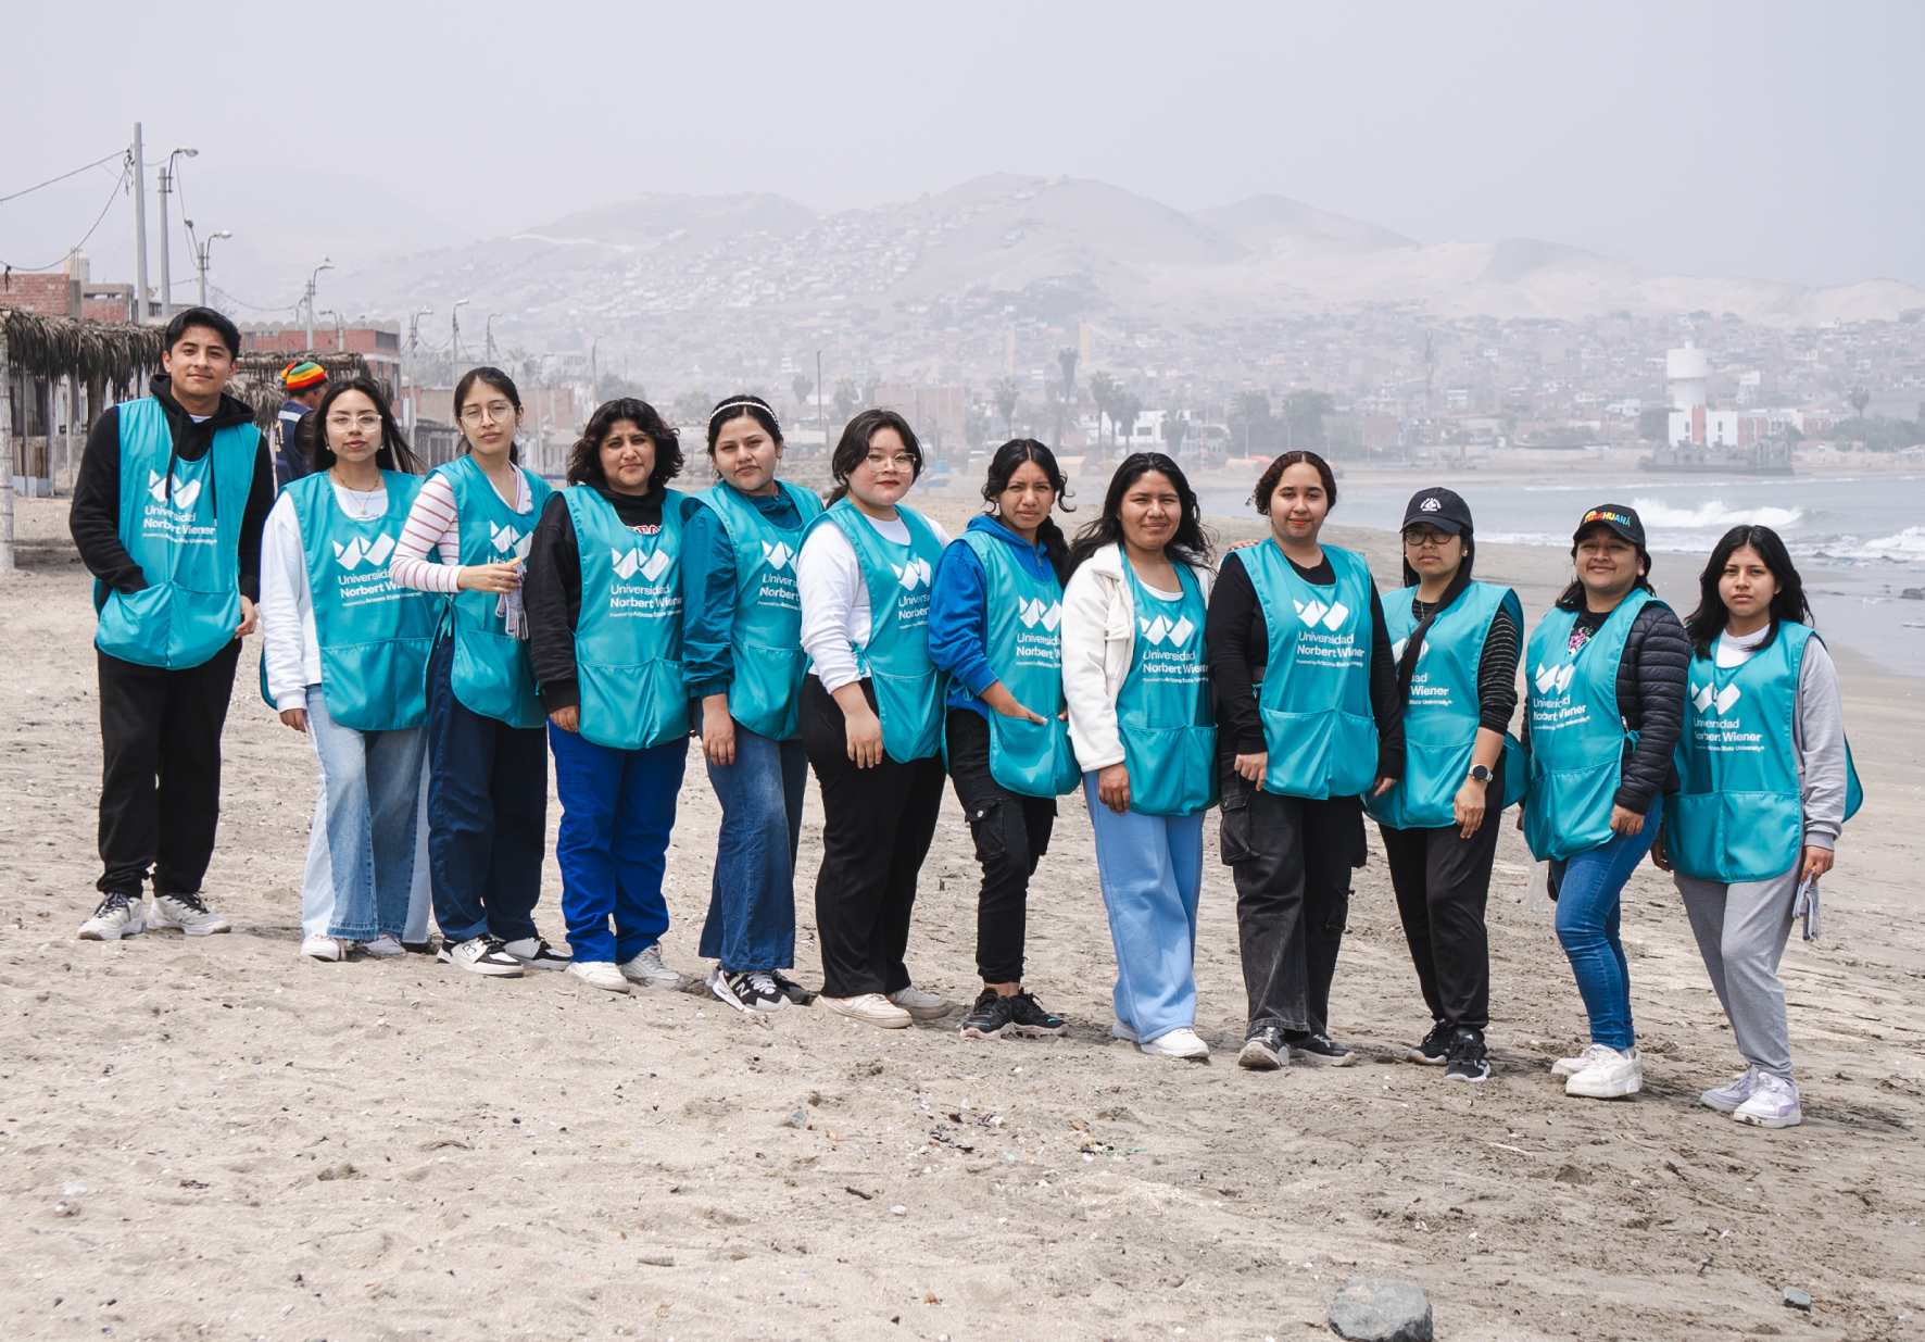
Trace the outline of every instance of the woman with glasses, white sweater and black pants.
{"type": "Polygon", "coordinates": [[[830,470],[830,510],[797,560],[812,660],[803,741],[822,789],[822,1003],[901,1030],[949,1011],[903,963],[916,874],[943,805],[930,578],[949,535],[903,504],[922,474],[922,445],[895,410],[849,420],[830,470]]]}

